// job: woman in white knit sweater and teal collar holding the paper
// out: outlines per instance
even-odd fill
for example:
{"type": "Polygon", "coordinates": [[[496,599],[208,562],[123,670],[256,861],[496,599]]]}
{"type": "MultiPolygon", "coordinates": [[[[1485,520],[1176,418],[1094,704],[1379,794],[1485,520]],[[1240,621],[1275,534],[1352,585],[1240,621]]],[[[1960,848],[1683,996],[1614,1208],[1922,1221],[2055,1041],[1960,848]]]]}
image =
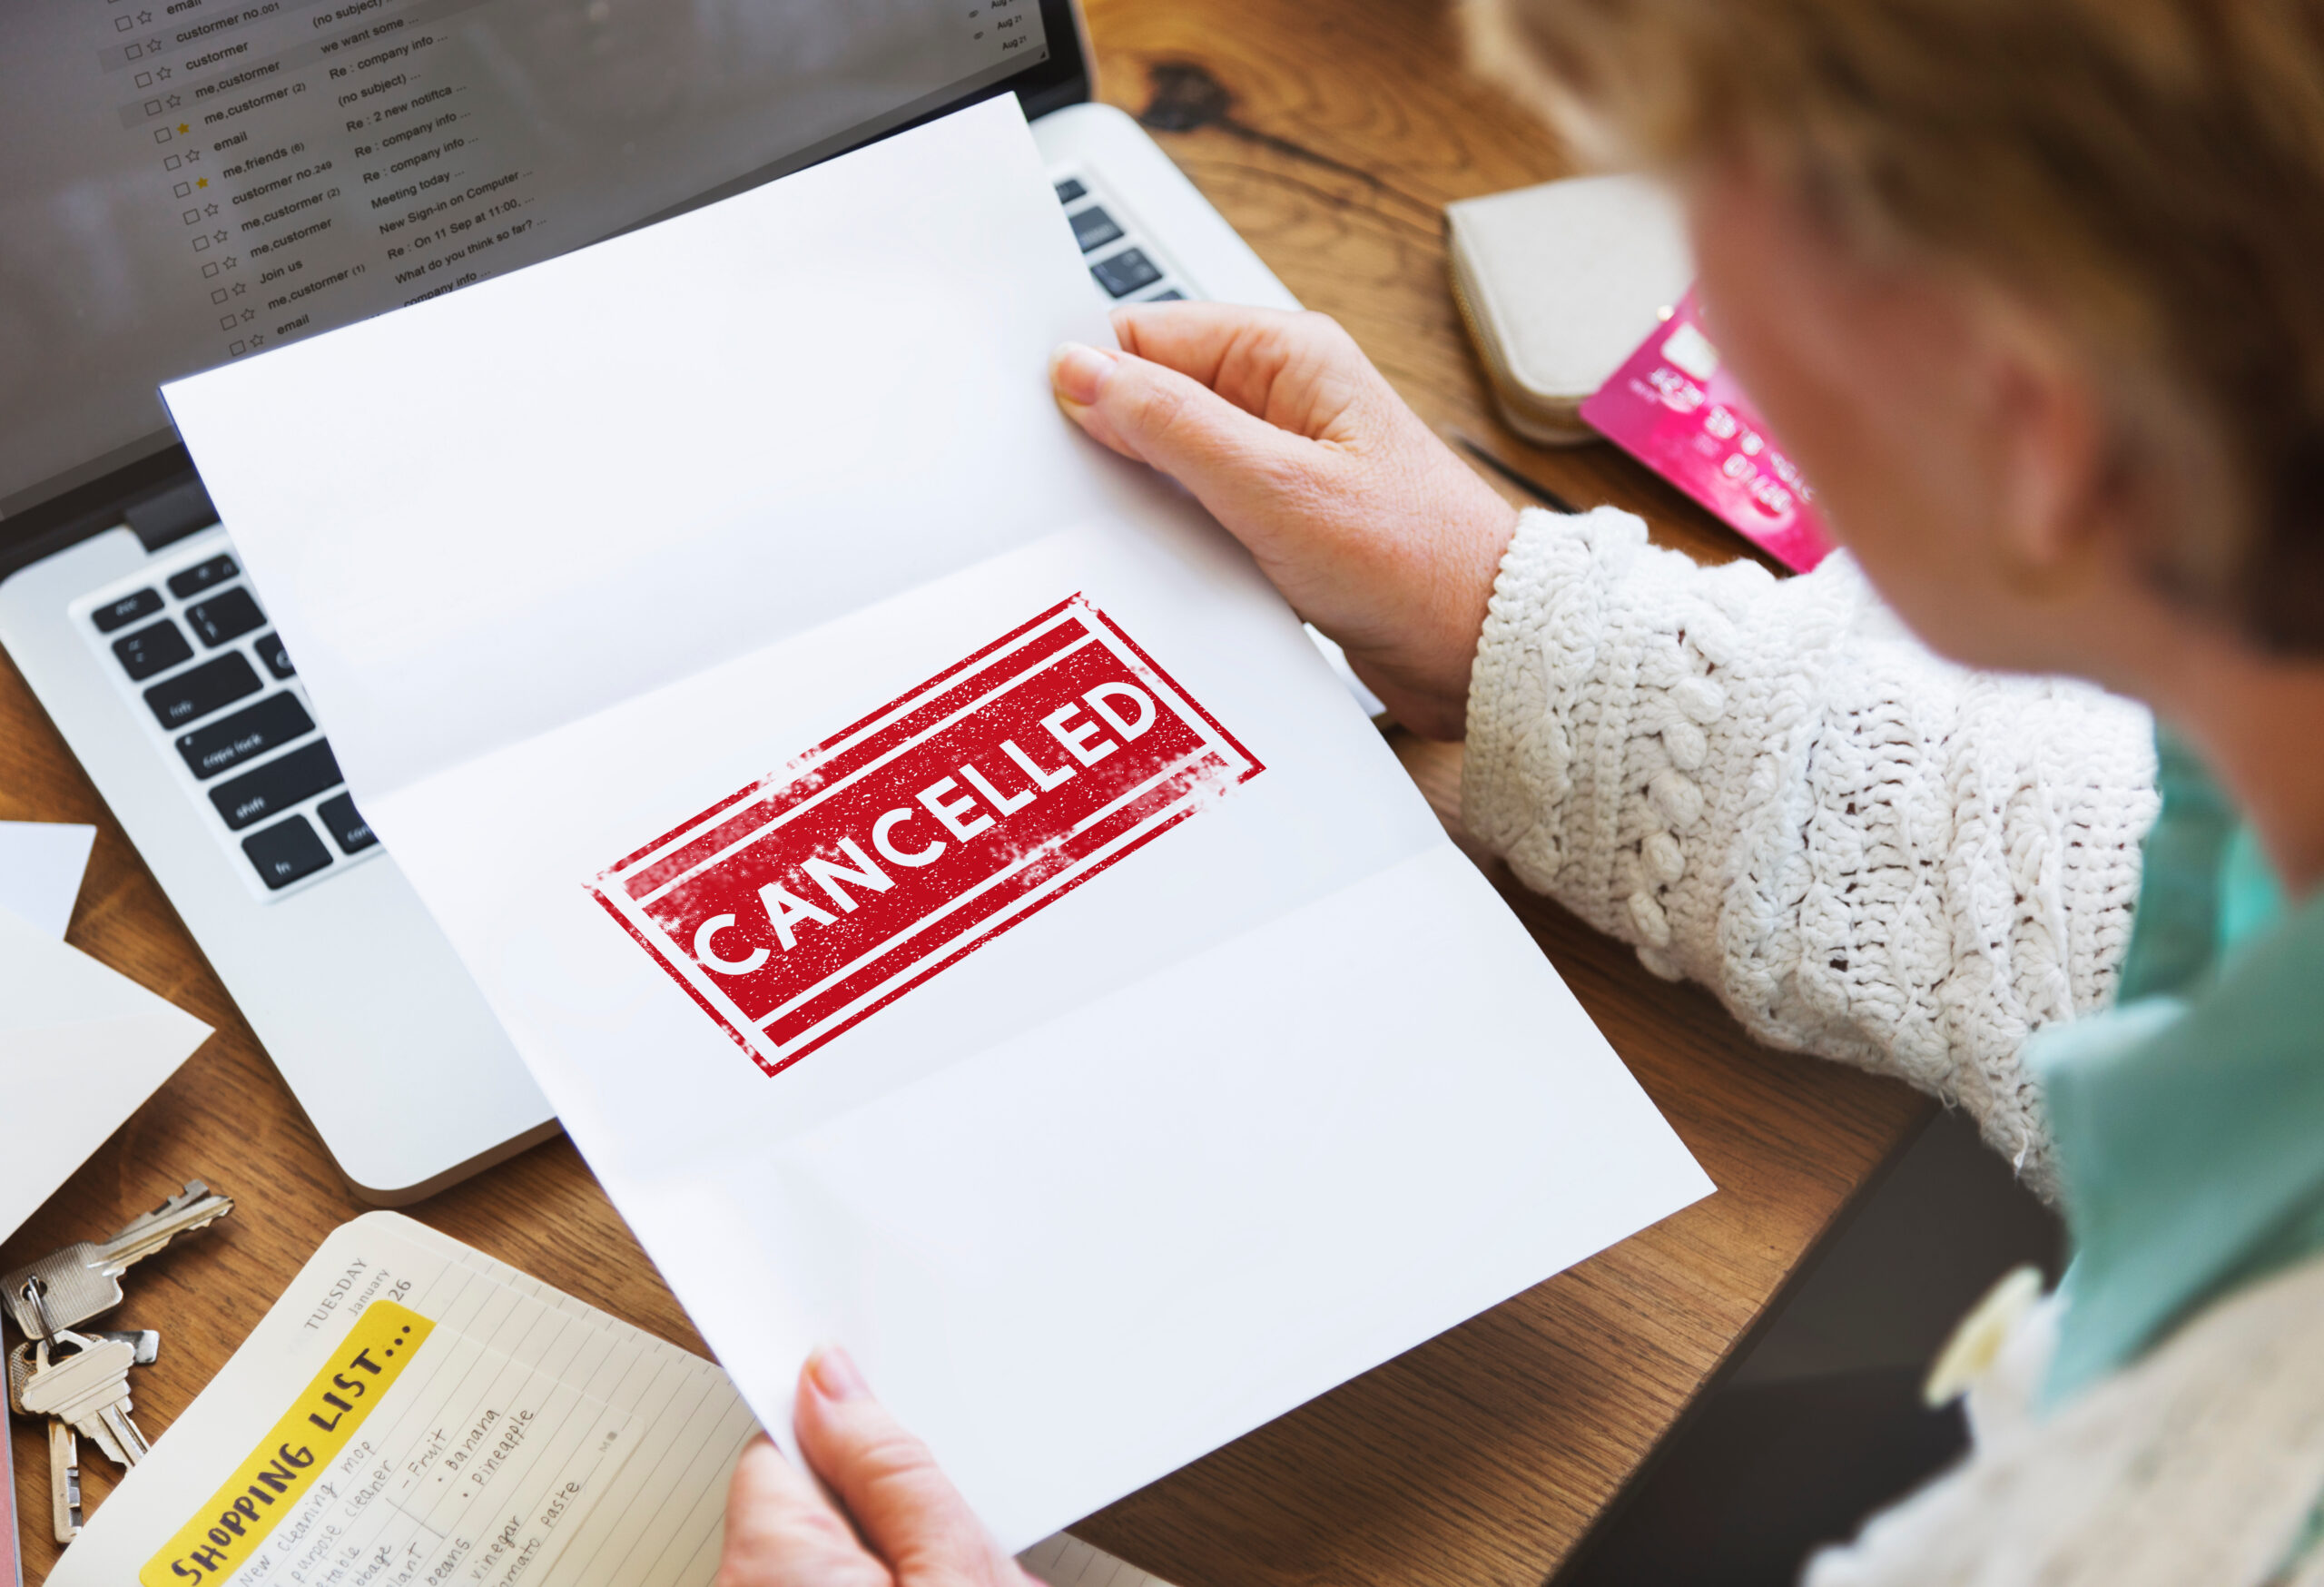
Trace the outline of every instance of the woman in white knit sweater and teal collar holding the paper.
{"type": "MultiPolygon", "coordinates": [[[[1850,555],[1513,514],[1306,316],[1122,311],[1060,404],[1466,734],[1520,878],[2064,1199],[2061,1294],[1950,1352],[1971,1457],[1815,1587],[2324,1582],[2324,0],[1476,21],[1676,184],[1850,555]]],[[[762,1445],[723,1580],[1020,1580],[844,1355],[797,1424],[855,1527],[762,1445]]]]}

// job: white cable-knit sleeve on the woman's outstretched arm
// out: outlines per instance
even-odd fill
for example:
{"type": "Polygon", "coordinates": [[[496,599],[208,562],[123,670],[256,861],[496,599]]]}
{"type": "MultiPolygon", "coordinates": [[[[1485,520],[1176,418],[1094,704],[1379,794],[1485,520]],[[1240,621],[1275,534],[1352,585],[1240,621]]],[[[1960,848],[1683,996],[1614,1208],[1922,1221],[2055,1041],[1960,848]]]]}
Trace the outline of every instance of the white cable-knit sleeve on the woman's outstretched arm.
{"type": "Polygon", "coordinates": [[[1710,569],[1597,509],[1501,562],[1464,825],[1759,1041],[1964,1106],[2043,1194],[2020,1048],[2110,1001],[2154,811],[2143,709],[1934,658],[1845,555],[1710,569]]]}

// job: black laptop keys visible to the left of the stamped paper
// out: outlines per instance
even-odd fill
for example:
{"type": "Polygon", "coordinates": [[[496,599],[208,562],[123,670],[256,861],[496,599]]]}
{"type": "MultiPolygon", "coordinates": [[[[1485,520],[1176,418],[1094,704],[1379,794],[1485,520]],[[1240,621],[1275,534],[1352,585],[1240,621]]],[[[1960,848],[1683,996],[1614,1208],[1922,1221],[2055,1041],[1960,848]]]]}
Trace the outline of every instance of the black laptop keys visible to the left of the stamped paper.
{"type": "Polygon", "coordinates": [[[258,897],[376,850],[223,530],[77,602],[74,613],[258,897]]]}

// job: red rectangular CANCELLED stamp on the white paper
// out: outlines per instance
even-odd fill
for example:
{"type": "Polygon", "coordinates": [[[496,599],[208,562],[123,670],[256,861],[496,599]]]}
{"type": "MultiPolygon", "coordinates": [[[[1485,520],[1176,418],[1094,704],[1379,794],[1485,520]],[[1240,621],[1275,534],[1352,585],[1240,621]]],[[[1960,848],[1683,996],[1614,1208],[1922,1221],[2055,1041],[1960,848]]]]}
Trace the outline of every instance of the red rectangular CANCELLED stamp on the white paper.
{"type": "Polygon", "coordinates": [[[1262,769],[1076,595],[593,892],[779,1073],[1262,769]]]}

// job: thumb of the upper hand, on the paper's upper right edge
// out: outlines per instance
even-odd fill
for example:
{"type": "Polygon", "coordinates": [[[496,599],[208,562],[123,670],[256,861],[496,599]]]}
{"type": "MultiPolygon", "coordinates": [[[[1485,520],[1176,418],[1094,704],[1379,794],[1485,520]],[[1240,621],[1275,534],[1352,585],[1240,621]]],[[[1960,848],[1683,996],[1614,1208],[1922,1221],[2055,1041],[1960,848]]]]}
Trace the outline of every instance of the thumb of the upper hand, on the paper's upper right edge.
{"type": "Polygon", "coordinates": [[[1148,462],[1211,511],[1297,437],[1234,407],[1202,381],[1134,353],[1067,342],[1048,360],[1057,407],[1092,437],[1148,462]]]}

